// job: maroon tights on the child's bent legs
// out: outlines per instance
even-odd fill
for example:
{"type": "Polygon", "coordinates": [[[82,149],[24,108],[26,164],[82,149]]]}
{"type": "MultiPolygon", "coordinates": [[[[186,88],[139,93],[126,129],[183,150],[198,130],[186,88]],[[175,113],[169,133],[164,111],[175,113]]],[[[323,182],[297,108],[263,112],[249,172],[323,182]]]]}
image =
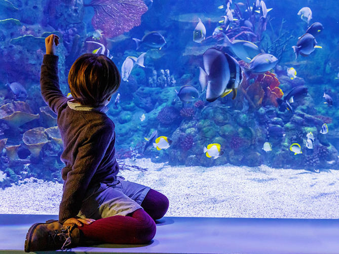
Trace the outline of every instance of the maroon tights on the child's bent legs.
{"type": "Polygon", "coordinates": [[[83,224],[79,227],[81,237],[106,243],[147,243],[156,234],[154,220],[162,218],[168,209],[168,199],[160,192],[150,189],[137,209],[127,216],[111,216],[83,224]]]}

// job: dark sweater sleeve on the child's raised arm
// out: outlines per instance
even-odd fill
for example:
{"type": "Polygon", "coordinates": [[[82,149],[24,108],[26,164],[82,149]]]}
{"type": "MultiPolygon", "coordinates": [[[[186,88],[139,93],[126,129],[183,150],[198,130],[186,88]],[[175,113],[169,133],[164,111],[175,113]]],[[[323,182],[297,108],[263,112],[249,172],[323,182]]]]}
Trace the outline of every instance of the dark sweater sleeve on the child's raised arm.
{"type": "Polygon", "coordinates": [[[40,75],[43,99],[56,114],[58,114],[58,108],[66,98],[59,87],[58,59],[59,57],[55,55],[44,55],[40,75]]]}

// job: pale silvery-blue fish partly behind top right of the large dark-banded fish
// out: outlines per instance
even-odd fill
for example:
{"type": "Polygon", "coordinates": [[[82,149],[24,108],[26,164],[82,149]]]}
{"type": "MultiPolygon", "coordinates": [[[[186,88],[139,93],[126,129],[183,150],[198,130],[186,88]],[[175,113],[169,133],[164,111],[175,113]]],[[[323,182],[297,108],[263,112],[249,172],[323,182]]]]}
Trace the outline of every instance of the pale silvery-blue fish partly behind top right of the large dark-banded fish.
{"type": "Polygon", "coordinates": [[[230,47],[234,54],[241,60],[249,63],[255,56],[260,54],[258,46],[251,41],[235,39],[233,41],[230,38],[223,34],[223,44],[218,45],[222,47],[230,47]]]}

